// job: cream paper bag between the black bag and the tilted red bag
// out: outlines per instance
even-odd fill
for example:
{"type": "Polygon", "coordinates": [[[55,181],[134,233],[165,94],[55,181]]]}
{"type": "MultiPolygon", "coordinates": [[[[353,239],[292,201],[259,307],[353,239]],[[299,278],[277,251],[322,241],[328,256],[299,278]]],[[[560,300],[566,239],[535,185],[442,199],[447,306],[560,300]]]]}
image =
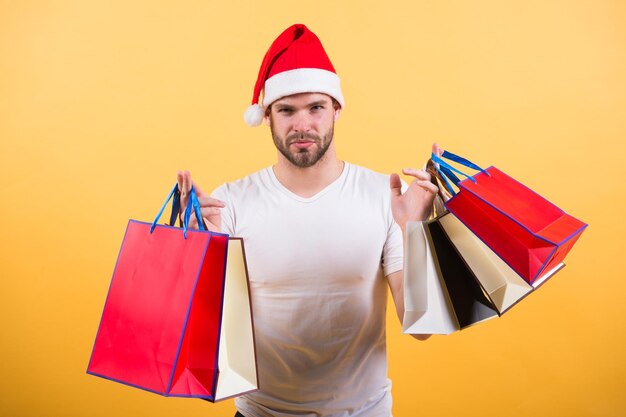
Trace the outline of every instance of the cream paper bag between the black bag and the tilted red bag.
{"type": "Polygon", "coordinates": [[[436,221],[499,315],[508,311],[565,266],[562,262],[559,263],[531,285],[454,215],[444,213],[436,221]]]}

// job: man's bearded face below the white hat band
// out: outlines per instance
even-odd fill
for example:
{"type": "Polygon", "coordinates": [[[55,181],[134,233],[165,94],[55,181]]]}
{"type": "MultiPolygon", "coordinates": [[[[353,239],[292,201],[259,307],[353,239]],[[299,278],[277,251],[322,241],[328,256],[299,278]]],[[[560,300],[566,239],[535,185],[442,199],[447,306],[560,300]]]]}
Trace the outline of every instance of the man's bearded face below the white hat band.
{"type": "Polygon", "coordinates": [[[308,168],[330,147],[338,115],[326,94],[302,93],[272,103],[266,122],[278,151],[293,165],[308,168]]]}

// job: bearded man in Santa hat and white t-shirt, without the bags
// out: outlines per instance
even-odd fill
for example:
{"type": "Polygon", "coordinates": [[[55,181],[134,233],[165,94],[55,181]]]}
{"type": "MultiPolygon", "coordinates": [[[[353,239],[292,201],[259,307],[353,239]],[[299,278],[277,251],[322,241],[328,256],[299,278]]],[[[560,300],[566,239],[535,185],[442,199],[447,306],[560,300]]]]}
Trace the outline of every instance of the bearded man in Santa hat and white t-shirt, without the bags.
{"type": "MultiPolygon", "coordinates": [[[[319,39],[294,25],[263,60],[245,120],[270,126],[277,162],[209,197],[208,228],[243,237],[260,390],[238,416],[391,415],[387,285],[402,318],[402,230],[426,219],[437,187],[424,171],[402,193],[390,178],[340,160],[344,99],[319,39]],[[261,90],[263,102],[256,104],[261,90]]],[[[182,204],[192,180],[178,173],[182,204]]]]}

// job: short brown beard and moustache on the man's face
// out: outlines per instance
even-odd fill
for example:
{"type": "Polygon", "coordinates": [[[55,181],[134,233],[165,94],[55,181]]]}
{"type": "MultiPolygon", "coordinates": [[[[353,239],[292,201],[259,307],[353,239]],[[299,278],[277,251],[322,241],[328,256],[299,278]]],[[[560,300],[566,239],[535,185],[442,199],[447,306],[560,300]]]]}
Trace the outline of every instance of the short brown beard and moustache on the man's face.
{"type": "Polygon", "coordinates": [[[272,130],[272,139],[274,139],[274,145],[276,149],[283,154],[285,158],[298,168],[309,168],[317,164],[326,154],[326,151],[330,147],[333,141],[335,126],[332,125],[325,135],[319,136],[314,133],[292,133],[286,138],[281,137],[274,131],[274,127],[270,126],[272,130]],[[310,149],[298,149],[296,152],[290,152],[289,147],[293,142],[298,140],[310,140],[315,142],[310,149]]]}

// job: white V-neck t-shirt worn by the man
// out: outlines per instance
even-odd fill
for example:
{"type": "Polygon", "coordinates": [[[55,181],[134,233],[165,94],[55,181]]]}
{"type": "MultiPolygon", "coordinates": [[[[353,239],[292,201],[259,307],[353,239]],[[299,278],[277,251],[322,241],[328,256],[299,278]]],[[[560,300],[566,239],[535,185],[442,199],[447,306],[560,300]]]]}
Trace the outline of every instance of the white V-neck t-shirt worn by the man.
{"type": "Polygon", "coordinates": [[[260,390],[246,417],[391,415],[387,281],[402,269],[389,177],[346,163],[311,198],[272,168],[219,187],[222,230],[243,237],[260,390]]]}

